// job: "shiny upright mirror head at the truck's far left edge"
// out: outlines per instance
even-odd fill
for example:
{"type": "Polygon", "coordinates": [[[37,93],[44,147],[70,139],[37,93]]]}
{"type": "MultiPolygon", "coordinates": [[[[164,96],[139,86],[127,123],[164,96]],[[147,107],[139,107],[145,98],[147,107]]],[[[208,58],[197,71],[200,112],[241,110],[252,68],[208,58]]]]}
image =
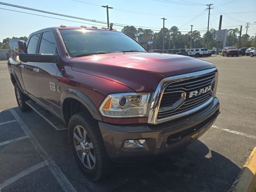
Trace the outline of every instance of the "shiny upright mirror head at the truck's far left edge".
{"type": "Polygon", "coordinates": [[[22,41],[22,40],[10,40],[9,47],[10,47],[11,57],[16,62],[21,62],[18,54],[28,53],[27,44],[25,41],[22,41]]]}

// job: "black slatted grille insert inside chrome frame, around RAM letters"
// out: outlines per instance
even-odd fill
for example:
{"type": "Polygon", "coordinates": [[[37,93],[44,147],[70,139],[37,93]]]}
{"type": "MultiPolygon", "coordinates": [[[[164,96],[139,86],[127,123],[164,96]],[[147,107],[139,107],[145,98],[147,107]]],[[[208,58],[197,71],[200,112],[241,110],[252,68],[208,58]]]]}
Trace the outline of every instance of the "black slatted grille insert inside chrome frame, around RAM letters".
{"type": "Polygon", "coordinates": [[[201,104],[204,104],[212,97],[214,88],[215,73],[170,83],[164,90],[160,103],[160,108],[158,111],[158,119],[167,118],[182,112],[186,112],[200,106],[201,104]],[[198,96],[193,96],[189,98],[190,92],[196,90],[198,91],[208,86],[212,86],[212,90],[210,92],[202,93],[198,96]],[[186,99],[180,104],[180,106],[167,110],[166,108],[161,108],[166,106],[172,106],[172,104],[178,101],[181,97],[181,92],[186,92],[186,99]]]}

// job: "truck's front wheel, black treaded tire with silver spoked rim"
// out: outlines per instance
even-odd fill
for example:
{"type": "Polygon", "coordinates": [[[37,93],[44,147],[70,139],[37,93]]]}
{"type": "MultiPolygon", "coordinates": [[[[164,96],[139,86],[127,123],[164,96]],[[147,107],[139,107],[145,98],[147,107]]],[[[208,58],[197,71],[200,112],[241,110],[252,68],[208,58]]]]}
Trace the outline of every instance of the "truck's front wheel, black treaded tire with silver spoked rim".
{"type": "Polygon", "coordinates": [[[84,174],[89,176],[93,181],[100,180],[110,174],[113,170],[113,164],[110,162],[106,152],[98,122],[94,120],[88,111],[74,114],[70,118],[68,137],[76,162],[84,174]],[[82,136],[86,134],[84,140],[82,140],[83,137],[78,133],[78,129],[82,136]],[[86,132],[84,132],[84,130],[86,132]],[[75,139],[75,134],[78,134],[76,136],[78,136],[78,139],[81,139],[80,141],[75,139]],[[83,148],[83,146],[85,146],[85,148],[83,148]],[[83,152],[82,150],[87,151],[83,152]],[[82,156],[84,156],[83,162],[82,156]]]}

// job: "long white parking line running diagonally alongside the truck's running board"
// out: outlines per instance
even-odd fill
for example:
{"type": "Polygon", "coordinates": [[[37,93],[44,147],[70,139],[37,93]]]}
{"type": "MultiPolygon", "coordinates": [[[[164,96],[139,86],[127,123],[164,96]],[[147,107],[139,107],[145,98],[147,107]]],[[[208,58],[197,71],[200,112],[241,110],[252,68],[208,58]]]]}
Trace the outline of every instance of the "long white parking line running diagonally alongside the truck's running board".
{"type": "Polygon", "coordinates": [[[38,154],[44,159],[49,162],[48,168],[54,175],[54,177],[59,182],[60,186],[65,192],[76,192],[76,189],[72,186],[72,184],[69,182],[69,180],[66,178],[66,176],[63,174],[63,172],[60,170],[60,168],[56,165],[56,163],[52,160],[52,158],[46,153],[44,148],[40,145],[40,143],[36,140],[32,132],[28,129],[26,124],[22,121],[20,116],[14,111],[14,109],[10,109],[10,112],[14,116],[14,118],[18,121],[20,124],[20,127],[22,130],[29,136],[31,143],[33,144],[34,148],[38,152],[38,154]]]}

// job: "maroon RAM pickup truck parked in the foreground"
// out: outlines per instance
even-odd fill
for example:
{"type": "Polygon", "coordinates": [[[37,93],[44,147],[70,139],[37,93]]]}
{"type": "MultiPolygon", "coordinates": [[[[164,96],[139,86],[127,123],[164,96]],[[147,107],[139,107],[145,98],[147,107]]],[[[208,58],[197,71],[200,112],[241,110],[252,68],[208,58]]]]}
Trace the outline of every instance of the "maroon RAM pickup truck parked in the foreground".
{"type": "Polygon", "coordinates": [[[20,110],[32,108],[56,129],[68,128],[74,157],[92,180],[111,172],[113,162],[171,154],[202,136],[220,113],[212,63],[148,52],[121,32],[60,26],[9,45],[20,110]]]}

